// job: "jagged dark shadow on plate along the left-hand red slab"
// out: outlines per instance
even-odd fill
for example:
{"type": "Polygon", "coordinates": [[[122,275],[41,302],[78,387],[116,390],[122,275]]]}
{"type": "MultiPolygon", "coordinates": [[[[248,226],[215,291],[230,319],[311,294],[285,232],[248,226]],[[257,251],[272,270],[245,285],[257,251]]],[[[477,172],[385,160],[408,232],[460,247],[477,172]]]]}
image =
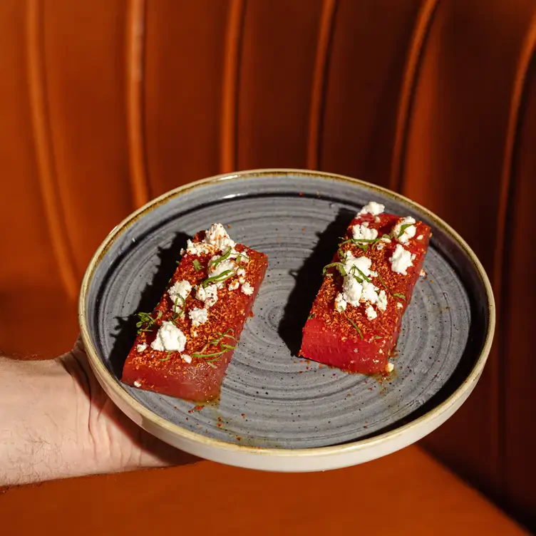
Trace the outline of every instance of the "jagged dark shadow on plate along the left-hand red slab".
{"type": "Polygon", "coordinates": [[[158,248],[158,258],[160,266],[153,277],[153,281],[143,289],[140,295],[140,301],[135,307],[135,312],[130,316],[115,319],[118,324],[115,326],[115,342],[110,351],[110,368],[115,376],[120,379],[123,375],[123,365],[128,352],[134,344],[136,333],[136,323],[138,322],[139,311],[153,311],[164,294],[168,283],[177,267],[177,259],[180,257],[180,249],[186,246],[186,241],[191,238],[184,232],[175,234],[169,247],[158,248]]]}

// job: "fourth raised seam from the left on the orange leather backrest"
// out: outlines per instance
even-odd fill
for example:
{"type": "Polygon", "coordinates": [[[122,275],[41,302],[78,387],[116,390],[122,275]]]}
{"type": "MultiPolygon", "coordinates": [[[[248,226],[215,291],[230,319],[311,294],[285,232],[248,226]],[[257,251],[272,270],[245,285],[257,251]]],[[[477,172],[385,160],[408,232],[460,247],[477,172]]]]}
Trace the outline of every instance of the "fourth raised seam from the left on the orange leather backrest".
{"type": "Polygon", "coordinates": [[[320,133],[324,123],[324,103],[326,96],[326,76],[331,56],[331,44],[335,27],[338,0],[324,0],[319,24],[319,39],[311,88],[311,108],[309,110],[309,140],[307,143],[307,168],[319,169],[320,133]]]}

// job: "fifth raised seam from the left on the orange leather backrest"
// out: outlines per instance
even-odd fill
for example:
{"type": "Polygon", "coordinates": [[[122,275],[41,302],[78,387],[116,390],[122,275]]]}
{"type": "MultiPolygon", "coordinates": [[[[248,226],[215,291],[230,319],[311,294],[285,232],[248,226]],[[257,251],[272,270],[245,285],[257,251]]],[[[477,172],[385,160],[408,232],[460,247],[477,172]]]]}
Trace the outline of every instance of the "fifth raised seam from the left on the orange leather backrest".
{"type": "Polygon", "coordinates": [[[401,177],[403,153],[406,150],[408,120],[413,101],[413,91],[416,85],[418,67],[421,63],[423,46],[426,42],[426,36],[428,36],[428,32],[430,31],[438,4],[438,0],[426,0],[421,6],[421,9],[419,9],[415,29],[411,37],[411,46],[406,58],[401,95],[398,100],[398,110],[396,113],[393,156],[391,158],[391,177],[389,179],[389,187],[395,191],[400,191],[403,187],[401,177]]]}

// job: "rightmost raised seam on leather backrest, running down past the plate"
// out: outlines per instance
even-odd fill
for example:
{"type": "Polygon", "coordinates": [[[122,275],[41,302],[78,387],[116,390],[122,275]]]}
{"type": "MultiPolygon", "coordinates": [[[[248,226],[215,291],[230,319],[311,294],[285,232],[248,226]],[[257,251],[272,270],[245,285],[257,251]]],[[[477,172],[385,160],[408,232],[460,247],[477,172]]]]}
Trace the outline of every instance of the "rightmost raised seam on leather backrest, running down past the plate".
{"type": "MultiPolygon", "coordinates": [[[[503,315],[503,301],[501,299],[503,288],[505,287],[505,274],[504,264],[506,255],[508,253],[507,242],[505,240],[505,227],[507,225],[507,215],[512,209],[510,206],[512,203],[512,172],[515,166],[515,153],[517,132],[520,126],[521,107],[525,93],[525,84],[527,81],[527,73],[530,69],[532,58],[536,53],[536,14],[532,16],[530,26],[527,31],[527,35],[522,44],[519,60],[517,62],[517,68],[515,70],[515,78],[512,88],[512,98],[510,100],[510,113],[508,117],[506,140],[505,140],[505,154],[503,160],[503,170],[501,174],[500,182],[500,197],[498,205],[497,216],[497,231],[495,237],[495,255],[494,255],[494,270],[493,270],[493,287],[495,289],[495,305],[498,311],[498,325],[500,325],[501,317],[503,315]]],[[[505,465],[505,449],[506,449],[506,415],[505,415],[505,337],[502,336],[500,330],[495,334],[496,344],[499,351],[499,364],[498,367],[493,368],[492,377],[492,393],[495,394],[495,400],[493,403],[498,408],[498,423],[492,423],[495,426],[495,450],[498,460],[498,476],[500,478],[500,490],[505,492],[506,481],[506,465],[505,465]],[[503,383],[501,383],[503,381],[503,383]]]]}

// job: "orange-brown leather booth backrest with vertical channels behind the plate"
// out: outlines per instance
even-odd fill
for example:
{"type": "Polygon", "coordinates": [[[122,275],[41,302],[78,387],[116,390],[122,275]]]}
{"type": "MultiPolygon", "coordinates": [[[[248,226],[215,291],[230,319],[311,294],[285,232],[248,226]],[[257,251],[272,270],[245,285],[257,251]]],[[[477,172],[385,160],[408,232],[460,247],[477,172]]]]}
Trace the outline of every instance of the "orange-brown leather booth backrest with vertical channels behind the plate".
{"type": "Polygon", "coordinates": [[[172,187],[385,185],[468,240],[498,301],[480,385],[422,445],[536,526],[534,0],[3,0],[0,36],[0,349],[67,349],[94,249],[172,187]]]}

